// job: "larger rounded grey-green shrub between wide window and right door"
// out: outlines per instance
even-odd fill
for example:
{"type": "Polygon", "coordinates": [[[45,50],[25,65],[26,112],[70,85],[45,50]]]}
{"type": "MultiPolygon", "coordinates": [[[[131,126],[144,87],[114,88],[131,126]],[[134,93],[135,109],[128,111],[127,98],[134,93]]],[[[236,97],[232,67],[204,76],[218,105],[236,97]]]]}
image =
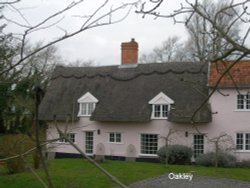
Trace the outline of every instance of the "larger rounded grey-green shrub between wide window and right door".
{"type": "Polygon", "coordinates": [[[159,159],[168,164],[189,164],[193,155],[192,149],[183,145],[163,146],[157,152],[159,159]]]}

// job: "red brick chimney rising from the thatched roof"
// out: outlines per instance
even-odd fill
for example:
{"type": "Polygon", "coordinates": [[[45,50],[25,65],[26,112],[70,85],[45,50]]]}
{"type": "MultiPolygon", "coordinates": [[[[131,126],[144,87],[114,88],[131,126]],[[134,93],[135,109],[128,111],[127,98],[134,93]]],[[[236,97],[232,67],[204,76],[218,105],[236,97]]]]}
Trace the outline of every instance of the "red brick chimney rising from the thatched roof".
{"type": "Polygon", "coordinates": [[[122,65],[137,64],[138,61],[138,43],[134,38],[130,42],[123,42],[121,44],[122,50],[122,65]]]}

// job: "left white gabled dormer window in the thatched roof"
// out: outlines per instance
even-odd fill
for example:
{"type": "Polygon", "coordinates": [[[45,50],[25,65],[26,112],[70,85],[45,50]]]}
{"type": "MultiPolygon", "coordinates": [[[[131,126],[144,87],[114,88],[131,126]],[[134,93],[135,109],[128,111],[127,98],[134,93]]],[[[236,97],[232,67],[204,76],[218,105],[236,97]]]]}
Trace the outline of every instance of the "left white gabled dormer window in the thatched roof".
{"type": "Polygon", "coordinates": [[[78,116],[91,116],[98,100],[91,93],[87,92],[77,102],[79,103],[78,116]]]}

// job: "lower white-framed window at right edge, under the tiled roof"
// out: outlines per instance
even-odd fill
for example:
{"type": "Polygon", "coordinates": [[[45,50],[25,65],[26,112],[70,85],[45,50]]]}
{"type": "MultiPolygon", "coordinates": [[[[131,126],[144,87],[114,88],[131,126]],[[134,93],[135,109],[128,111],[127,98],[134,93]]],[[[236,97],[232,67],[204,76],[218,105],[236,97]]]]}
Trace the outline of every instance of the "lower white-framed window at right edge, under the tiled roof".
{"type": "Polygon", "coordinates": [[[250,133],[236,134],[236,149],[247,151],[250,150],[250,133]]]}

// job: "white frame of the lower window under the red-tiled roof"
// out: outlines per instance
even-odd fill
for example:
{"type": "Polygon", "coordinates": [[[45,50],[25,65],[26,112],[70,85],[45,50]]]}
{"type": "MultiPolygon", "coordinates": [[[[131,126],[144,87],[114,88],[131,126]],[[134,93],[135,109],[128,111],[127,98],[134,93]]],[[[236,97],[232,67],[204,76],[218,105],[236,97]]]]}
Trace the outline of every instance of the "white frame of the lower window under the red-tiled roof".
{"type": "Polygon", "coordinates": [[[250,131],[249,132],[237,132],[235,138],[236,151],[250,152],[250,131]],[[239,143],[238,135],[242,135],[242,143],[239,143]],[[241,145],[241,148],[238,148],[241,145]]]}

